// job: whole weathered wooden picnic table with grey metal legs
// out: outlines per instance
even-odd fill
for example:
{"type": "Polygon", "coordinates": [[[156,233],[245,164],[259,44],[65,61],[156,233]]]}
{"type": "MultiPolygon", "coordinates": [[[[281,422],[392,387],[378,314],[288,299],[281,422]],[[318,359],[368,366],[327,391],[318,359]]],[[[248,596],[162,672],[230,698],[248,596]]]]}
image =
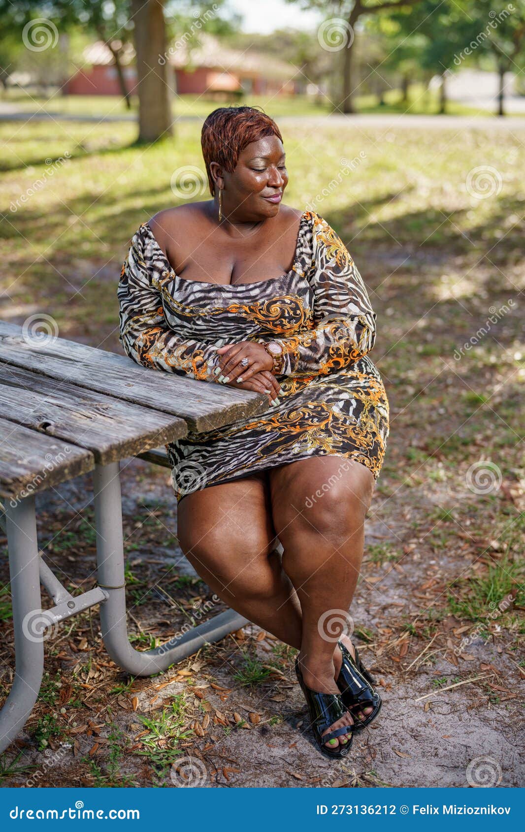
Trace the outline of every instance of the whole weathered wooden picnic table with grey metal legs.
{"type": "MultiPolygon", "coordinates": [[[[100,605],[106,650],[122,670],[150,676],[246,623],[220,613],[145,652],[130,644],[121,513],[120,461],[169,467],[161,446],[188,430],[218,428],[262,412],[265,396],[161,373],[125,355],[0,321],[0,522],[7,534],[15,674],[0,711],[0,750],[22,730],[37,701],[47,628],[100,605]],[[37,542],[35,494],[92,472],[97,586],[72,595],[37,542]],[[41,584],[53,606],[42,610],[41,584]]],[[[173,495],[175,500],[175,494],[173,495]]]]}

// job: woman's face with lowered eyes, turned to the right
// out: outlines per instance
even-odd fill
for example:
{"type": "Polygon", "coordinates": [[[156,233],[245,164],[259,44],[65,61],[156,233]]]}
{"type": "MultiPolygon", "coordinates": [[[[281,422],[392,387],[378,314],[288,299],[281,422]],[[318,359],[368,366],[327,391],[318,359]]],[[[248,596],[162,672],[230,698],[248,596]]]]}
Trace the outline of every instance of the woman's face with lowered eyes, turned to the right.
{"type": "Polygon", "coordinates": [[[240,221],[256,221],[279,213],[288,172],[285,148],[278,136],[252,141],[240,153],[235,171],[220,173],[225,215],[240,221]]]}

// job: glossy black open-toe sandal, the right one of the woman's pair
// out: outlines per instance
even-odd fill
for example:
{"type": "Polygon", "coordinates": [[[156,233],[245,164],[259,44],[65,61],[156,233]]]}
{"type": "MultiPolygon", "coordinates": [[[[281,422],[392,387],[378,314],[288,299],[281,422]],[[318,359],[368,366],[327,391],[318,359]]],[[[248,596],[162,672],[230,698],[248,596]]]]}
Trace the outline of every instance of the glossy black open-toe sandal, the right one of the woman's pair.
{"type": "Polygon", "coordinates": [[[379,693],[374,690],[375,684],[374,676],[364,667],[363,662],[359,658],[359,652],[354,645],[355,659],[342,641],[338,641],[339,650],[343,656],[343,663],[339,676],[337,677],[337,686],[341,691],[341,699],[354,720],[354,734],[359,734],[359,731],[369,726],[381,710],[381,697],[379,693]],[[374,708],[371,714],[365,716],[364,720],[360,720],[357,716],[358,711],[363,711],[364,708],[374,708]]]}

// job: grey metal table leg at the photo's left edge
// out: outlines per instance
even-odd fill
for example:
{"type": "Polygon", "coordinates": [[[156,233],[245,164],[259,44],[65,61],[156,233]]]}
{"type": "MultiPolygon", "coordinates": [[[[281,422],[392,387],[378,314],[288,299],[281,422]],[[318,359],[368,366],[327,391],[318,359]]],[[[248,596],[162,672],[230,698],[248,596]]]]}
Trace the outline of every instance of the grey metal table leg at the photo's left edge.
{"type": "Polygon", "coordinates": [[[44,669],[47,625],[42,613],[35,498],[6,507],[7,547],[15,636],[15,678],[0,711],[0,751],[22,730],[37,701],[44,669]]]}

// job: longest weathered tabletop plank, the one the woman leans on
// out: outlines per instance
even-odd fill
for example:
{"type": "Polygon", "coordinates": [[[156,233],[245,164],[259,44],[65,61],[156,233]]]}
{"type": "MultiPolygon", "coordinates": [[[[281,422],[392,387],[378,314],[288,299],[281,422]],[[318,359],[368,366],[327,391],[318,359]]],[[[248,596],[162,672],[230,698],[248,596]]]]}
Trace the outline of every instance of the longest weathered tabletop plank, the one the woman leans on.
{"type": "Polygon", "coordinates": [[[180,416],[198,433],[268,406],[263,394],[147,369],[126,355],[62,338],[30,339],[22,327],[5,321],[0,321],[0,361],[180,416]]]}

